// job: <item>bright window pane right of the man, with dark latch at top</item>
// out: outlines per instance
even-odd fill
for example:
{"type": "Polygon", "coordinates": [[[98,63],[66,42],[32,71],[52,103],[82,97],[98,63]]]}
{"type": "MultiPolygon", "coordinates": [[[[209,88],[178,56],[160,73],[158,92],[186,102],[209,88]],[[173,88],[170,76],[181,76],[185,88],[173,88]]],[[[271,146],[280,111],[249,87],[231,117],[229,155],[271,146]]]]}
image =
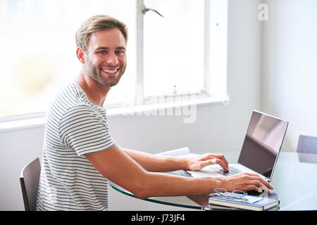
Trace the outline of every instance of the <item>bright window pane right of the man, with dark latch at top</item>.
{"type": "Polygon", "coordinates": [[[144,1],[144,96],[204,90],[204,1],[144,1]]]}

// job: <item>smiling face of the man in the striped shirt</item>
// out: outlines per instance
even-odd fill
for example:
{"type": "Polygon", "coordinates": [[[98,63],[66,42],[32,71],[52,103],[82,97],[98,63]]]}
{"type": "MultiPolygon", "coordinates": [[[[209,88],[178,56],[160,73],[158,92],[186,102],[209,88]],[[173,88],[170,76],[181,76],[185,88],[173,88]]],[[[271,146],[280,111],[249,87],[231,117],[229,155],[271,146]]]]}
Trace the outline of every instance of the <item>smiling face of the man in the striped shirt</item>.
{"type": "Polygon", "coordinates": [[[89,77],[104,86],[115,86],[126,66],[125,39],[120,30],[113,28],[90,35],[85,53],[85,68],[89,77]]]}

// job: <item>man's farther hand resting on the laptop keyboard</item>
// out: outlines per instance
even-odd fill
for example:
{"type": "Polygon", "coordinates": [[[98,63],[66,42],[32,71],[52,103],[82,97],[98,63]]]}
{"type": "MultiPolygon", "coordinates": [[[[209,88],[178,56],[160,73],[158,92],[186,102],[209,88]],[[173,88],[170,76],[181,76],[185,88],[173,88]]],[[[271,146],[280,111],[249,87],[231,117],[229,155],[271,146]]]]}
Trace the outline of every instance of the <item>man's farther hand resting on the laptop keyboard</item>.
{"type": "Polygon", "coordinates": [[[194,157],[187,158],[187,168],[188,170],[199,170],[208,165],[218,164],[223,167],[225,171],[228,171],[228,162],[225,157],[221,154],[211,154],[206,153],[204,155],[197,155],[194,157]]]}

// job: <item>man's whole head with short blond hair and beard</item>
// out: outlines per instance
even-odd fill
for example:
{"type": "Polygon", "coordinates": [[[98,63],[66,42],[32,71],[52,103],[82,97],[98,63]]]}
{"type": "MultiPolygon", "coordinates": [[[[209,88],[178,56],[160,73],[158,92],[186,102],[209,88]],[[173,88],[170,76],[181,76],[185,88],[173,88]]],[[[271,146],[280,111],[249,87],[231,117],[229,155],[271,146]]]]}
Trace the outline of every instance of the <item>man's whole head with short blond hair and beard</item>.
{"type": "Polygon", "coordinates": [[[104,86],[118,84],[125,72],[128,29],[108,15],[94,15],[76,32],[77,58],[89,77],[104,86]]]}

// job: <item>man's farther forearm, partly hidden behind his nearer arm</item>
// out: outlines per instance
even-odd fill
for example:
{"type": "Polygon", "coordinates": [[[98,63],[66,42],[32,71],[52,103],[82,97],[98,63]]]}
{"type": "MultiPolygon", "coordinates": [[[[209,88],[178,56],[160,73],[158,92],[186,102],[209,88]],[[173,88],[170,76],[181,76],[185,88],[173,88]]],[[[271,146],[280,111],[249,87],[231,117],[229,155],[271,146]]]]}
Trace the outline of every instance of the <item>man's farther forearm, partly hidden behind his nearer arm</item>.
{"type": "Polygon", "coordinates": [[[187,160],[164,155],[151,155],[137,150],[121,148],[130,158],[149,172],[168,172],[177,169],[187,169],[187,160]]]}

